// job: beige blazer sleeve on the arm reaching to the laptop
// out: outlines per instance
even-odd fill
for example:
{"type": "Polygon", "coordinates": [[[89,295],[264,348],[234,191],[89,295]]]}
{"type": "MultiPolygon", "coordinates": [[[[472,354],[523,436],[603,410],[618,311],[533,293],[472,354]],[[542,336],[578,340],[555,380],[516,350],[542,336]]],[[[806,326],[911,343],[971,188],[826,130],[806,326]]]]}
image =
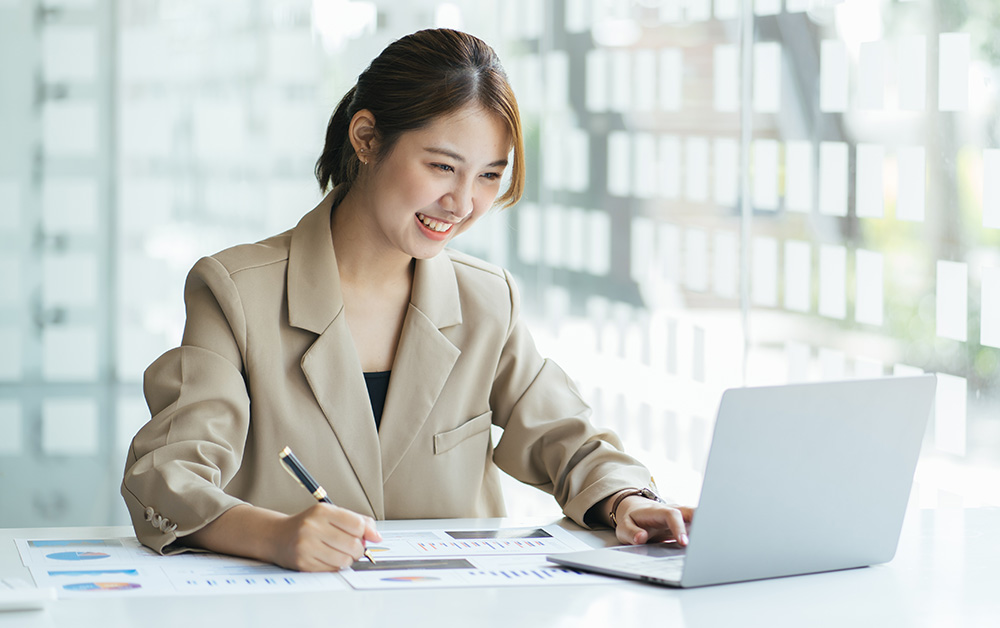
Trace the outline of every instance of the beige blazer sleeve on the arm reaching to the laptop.
{"type": "MultiPolygon", "coordinates": [[[[506,273],[506,271],[504,271],[506,273]]],[[[566,373],[541,357],[518,318],[509,273],[510,324],[490,405],[503,435],[493,460],[518,480],[551,493],[567,517],[584,515],[624,488],[650,486],[649,471],[626,455],[618,436],[590,423],[591,410],[566,373]]]]}

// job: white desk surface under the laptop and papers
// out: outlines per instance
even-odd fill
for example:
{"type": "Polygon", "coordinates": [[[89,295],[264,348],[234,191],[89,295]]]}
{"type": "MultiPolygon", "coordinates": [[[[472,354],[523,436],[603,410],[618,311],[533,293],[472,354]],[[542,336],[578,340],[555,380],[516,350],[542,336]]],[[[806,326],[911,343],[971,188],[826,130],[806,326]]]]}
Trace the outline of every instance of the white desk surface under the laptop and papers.
{"type": "MultiPolygon", "coordinates": [[[[864,525],[852,521],[844,525],[864,525]]],[[[457,520],[455,525],[538,525],[457,520]]],[[[561,525],[592,545],[608,533],[561,525]]],[[[441,527],[382,522],[382,529],[441,527]]],[[[14,538],[101,538],[129,528],[0,530],[0,578],[31,580],[14,538]]],[[[123,626],[1000,626],[1000,509],[913,511],[895,560],[866,569],[676,590],[621,581],[577,587],[338,591],[259,596],[64,600],[45,611],[0,613],[0,628],[123,626]]]]}

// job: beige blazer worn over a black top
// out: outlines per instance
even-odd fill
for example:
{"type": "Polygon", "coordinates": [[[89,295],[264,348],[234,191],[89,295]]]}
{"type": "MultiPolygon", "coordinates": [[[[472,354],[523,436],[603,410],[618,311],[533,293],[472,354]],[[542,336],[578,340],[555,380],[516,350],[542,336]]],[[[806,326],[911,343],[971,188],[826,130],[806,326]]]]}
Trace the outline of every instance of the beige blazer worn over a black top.
{"type": "Polygon", "coordinates": [[[122,496],[164,553],[242,503],[315,502],[282,468],[290,446],[339,506],[376,519],[504,514],[498,469],[578,523],[649,472],[588,422],[566,374],[518,320],[510,275],[460,253],[418,260],[376,432],[344,316],[333,194],[292,230],[198,261],[180,347],[146,371],[152,418],[122,496]],[[490,426],[502,428],[496,448],[490,426]]]}

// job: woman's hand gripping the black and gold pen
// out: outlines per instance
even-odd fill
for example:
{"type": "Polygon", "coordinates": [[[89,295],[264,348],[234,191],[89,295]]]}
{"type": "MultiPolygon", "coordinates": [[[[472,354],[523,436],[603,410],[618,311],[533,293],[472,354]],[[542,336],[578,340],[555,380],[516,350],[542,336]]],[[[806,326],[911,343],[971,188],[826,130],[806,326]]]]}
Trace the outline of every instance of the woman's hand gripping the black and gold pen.
{"type": "Polygon", "coordinates": [[[275,522],[271,562],[296,571],[337,571],[360,560],[365,543],[382,535],[375,520],[332,504],[275,522]]]}

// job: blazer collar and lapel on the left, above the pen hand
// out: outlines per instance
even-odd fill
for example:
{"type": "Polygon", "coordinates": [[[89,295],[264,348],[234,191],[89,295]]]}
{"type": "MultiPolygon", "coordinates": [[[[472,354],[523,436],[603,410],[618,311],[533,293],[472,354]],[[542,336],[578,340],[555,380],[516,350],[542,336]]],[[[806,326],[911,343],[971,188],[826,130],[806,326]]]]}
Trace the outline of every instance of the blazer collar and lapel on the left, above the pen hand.
{"type": "Polygon", "coordinates": [[[295,327],[319,334],[302,357],[302,370],[354,469],[372,513],[377,519],[384,519],[379,438],[361,361],[344,315],[330,234],[335,194],[331,193],[306,214],[292,232],[288,253],[288,319],[295,327]]]}

